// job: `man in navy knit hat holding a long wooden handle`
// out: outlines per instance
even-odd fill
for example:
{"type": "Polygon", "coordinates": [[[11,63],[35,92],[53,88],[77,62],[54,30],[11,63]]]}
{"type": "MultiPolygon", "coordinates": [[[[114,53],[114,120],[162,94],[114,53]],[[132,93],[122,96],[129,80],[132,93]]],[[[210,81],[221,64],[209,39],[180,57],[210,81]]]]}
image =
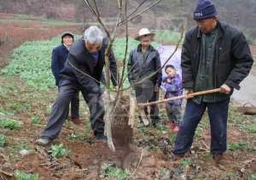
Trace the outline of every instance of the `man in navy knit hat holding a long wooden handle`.
{"type": "Polygon", "coordinates": [[[197,26],[186,34],[182,50],[183,87],[189,91],[221,88],[220,93],[188,100],[173,154],[189,151],[195,129],[207,109],[211,125],[211,153],[218,163],[227,149],[227,119],[230,95],[240,89],[253,58],[241,31],[218,21],[210,0],[199,0],[194,12],[197,26]]]}

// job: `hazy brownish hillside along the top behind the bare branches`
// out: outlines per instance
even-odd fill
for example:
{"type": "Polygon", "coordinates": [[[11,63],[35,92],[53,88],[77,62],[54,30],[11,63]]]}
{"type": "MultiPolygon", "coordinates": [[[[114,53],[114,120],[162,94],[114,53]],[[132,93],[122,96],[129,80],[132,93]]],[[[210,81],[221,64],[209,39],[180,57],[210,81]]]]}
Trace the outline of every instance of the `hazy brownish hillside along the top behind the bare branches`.
{"type": "MultiPolygon", "coordinates": [[[[132,11],[143,0],[129,0],[129,7],[132,11]]],[[[148,1],[148,3],[154,1],[148,1]]],[[[113,17],[116,14],[115,0],[97,0],[99,10],[104,17],[113,17]]],[[[148,4],[146,3],[146,4],[148,4]]],[[[219,16],[222,20],[234,25],[256,27],[256,1],[255,0],[213,0],[218,6],[219,16]]],[[[143,16],[159,19],[164,17],[166,20],[180,15],[188,15],[191,20],[191,12],[195,6],[195,0],[163,0],[157,6],[150,9],[143,16]],[[152,15],[154,17],[152,17],[152,15]]],[[[60,20],[91,20],[89,9],[82,0],[0,0],[0,13],[10,14],[33,14],[44,16],[45,18],[60,20]]],[[[152,20],[152,19],[151,19],[152,20]]],[[[152,21],[149,21],[153,24],[152,21]]],[[[191,25],[191,23],[189,23],[191,25]]]]}

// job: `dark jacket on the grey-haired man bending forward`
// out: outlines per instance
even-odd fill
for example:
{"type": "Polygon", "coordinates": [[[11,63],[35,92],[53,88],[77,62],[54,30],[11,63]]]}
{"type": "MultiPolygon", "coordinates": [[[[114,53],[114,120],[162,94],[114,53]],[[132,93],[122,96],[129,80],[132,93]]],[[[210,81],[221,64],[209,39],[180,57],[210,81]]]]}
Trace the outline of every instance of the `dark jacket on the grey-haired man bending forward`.
{"type": "MultiPolygon", "coordinates": [[[[105,65],[104,54],[107,45],[108,39],[104,39],[102,49],[99,52],[99,59],[94,67],[94,59],[85,48],[84,40],[79,39],[75,41],[69,51],[67,62],[63,70],[61,70],[61,85],[67,83],[67,81],[65,81],[67,79],[73,83],[77,83],[86,92],[99,93],[99,82],[101,81],[102,69],[105,65]],[[98,82],[96,82],[95,79],[98,82]]],[[[109,56],[109,63],[113,86],[116,86],[117,67],[113,52],[111,52],[109,56]]]]}

